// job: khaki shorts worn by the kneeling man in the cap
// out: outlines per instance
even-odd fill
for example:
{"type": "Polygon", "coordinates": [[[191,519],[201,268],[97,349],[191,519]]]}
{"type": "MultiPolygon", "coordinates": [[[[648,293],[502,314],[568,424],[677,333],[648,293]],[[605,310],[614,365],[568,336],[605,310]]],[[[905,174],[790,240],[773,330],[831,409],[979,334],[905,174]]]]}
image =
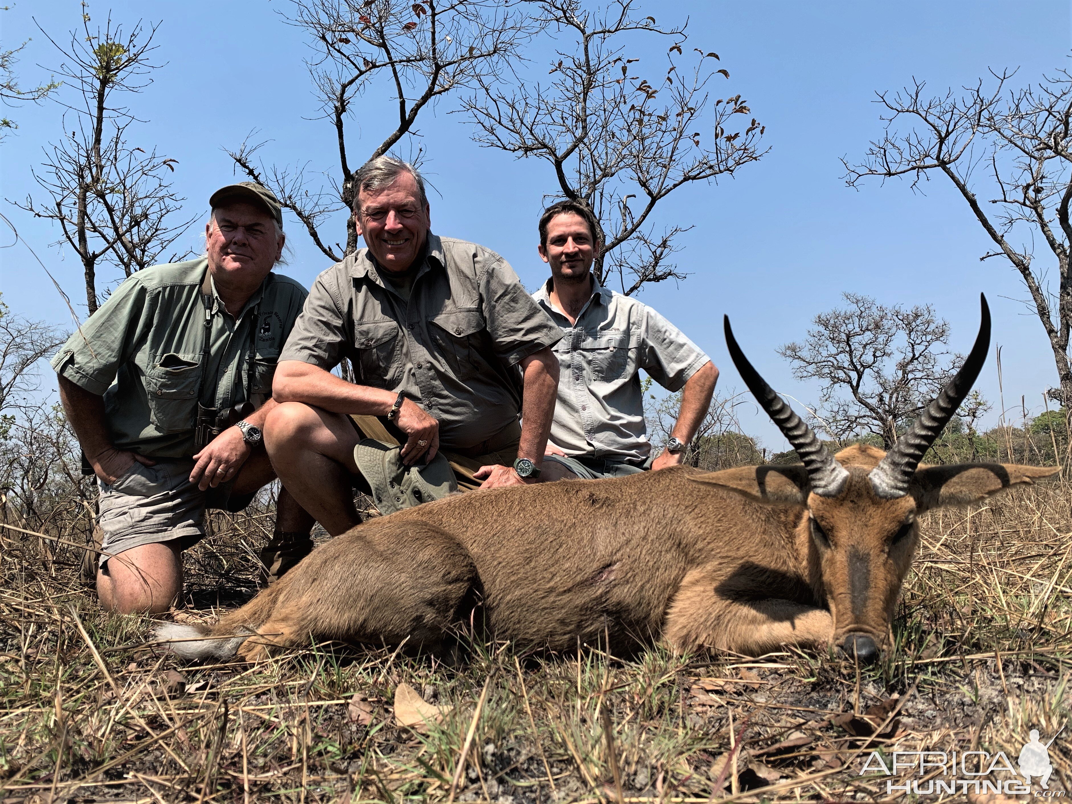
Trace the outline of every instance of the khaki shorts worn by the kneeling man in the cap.
{"type": "Polygon", "coordinates": [[[253,494],[232,494],[232,483],[202,491],[190,482],[191,459],[161,460],[154,466],[137,461],[110,486],[101,489],[98,524],[104,534],[99,565],[124,550],[179,540],[185,550],[205,537],[206,508],[239,511],[253,494]]]}

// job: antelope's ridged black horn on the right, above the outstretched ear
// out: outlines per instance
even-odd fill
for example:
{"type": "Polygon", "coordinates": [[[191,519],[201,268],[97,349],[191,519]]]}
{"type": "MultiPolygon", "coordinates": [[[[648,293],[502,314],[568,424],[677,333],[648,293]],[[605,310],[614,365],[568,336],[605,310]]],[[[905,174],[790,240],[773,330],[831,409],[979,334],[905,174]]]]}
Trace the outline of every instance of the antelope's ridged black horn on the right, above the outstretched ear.
{"type": "Polygon", "coordinates": [[[880,497],[892,500],[908,493],[908,486],[912,475],[915,474],[920,459],[934,444],[935,438],[974,385],[986,361],[986,352],[991,347],[991,309],[983,294],[979,294],[979,302],[982,307],[982,322],[968,359],[941,389],[941,393],[917,417],[908,432],[897,438],[893,449],[887,452],[885,458],[872,470],[868,476],[872,488],[880,497]]]}

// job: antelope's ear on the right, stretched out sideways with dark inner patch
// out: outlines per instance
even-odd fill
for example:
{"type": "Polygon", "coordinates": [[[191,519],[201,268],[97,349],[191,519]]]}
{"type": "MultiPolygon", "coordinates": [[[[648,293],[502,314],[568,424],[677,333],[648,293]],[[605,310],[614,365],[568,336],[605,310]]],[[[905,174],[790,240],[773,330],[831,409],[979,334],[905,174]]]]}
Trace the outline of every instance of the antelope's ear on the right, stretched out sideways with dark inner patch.
{"type": "Polygon", "coordinates": [[[921,511],[946,505],[968,505],[1013,486],[1032,486],[1036,478],[1049,477],[1059,471],[1057,466],[1015,463],[921,466],[912,478],[911,494],[921,511]]]}

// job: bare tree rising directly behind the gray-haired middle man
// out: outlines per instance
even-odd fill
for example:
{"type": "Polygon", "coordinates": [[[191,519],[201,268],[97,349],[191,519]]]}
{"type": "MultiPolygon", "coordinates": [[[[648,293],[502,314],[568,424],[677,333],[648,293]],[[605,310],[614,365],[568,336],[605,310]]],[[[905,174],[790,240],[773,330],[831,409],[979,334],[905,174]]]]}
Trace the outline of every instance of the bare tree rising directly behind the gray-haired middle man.
{"type": "MultiPolygon", "coordinates": [[[[272,189],[301,221],[324,254],[340,260],[357,249],[357,230],[346,220],[345,244],[323,230],[326,219],[354,203],[354,173],[383,155],[414,128],[422,109],[459,89],[490,80],[520,57],[521,45],[537,30],[516,0],[295,0],[288,21],[303,29],[314,56],[307,61],[324,119],[334,128],[339,174],[330,189],[311,187],[309,164],[266,166],[256,152],[265,143],[249,138],[228,151],[245,175],[272,189]],[[354,161],[346,124],[355,102],[386,84],[398,116],[378,145],[354,161]]],[[[371,118],[362,124],[372,128],[371,118]]]]}

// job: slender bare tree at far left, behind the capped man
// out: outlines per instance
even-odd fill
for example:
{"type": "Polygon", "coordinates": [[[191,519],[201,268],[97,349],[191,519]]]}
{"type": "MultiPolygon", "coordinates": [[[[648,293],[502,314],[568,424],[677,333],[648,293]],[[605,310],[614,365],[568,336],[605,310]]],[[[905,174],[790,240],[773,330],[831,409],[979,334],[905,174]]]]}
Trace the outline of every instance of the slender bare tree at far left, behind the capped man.
{"type": "Polygon", "coordinates": [[[59,242],[81,260],[90,314],[99,302],[100,265],[117,266],[129,277],[155,263],[194,220],[176,220],[184,200],[172,190],[176,160],[131,145],[130,126],[137,120],[121,105],[120,99],[145,89],[151,83],[147,76],[160,66],[150,63],[155,31],[138,23],[124,33],[110,17],[91,31],[86,14],[83,31],[71,34],[66,48],[49,38],[64,58],[58,73],[74,98],[61,96],[68,109],[63,137],[45,149],[44,169],[34,172],[49,199],[28,197],[18,206],[59,224],[59,242]]]}

